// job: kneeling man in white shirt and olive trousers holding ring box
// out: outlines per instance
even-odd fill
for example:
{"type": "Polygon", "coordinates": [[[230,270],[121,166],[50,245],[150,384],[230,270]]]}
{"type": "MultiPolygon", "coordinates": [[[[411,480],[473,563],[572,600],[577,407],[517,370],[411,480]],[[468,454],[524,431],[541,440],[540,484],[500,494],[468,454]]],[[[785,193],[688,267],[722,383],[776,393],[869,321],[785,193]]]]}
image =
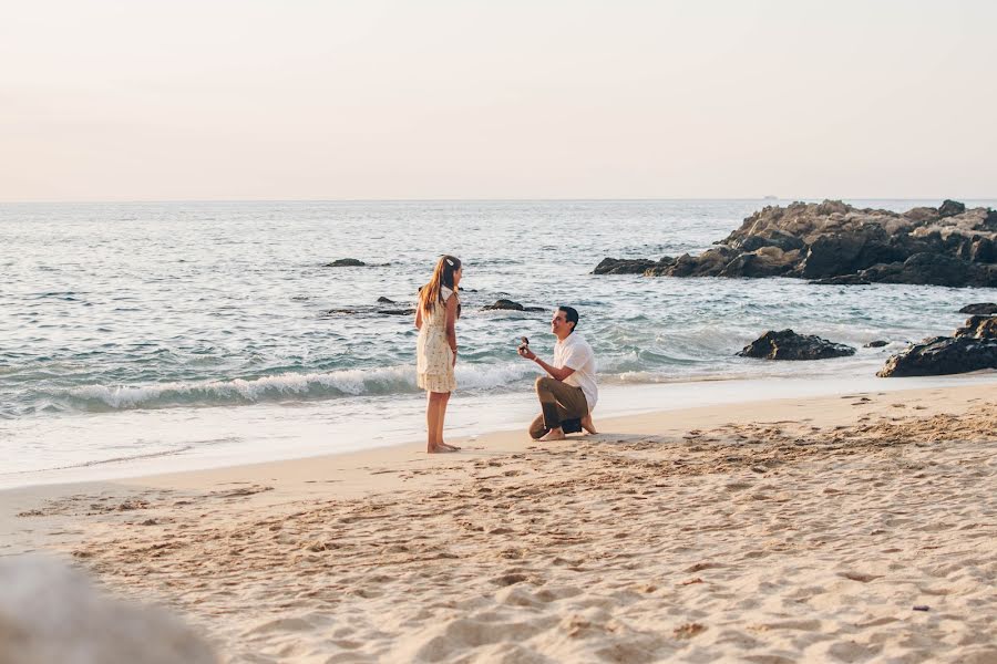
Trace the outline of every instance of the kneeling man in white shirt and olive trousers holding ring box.
{"type": "Polygon", "coordinates": [[[579,430],[572,427],[578,421],[586,432],[596,433],[592,423],[592,412],[599,396],[595,380],[595,354],[588,342],[575,332],[577,326],[578,312],[571,307],[558,307],[551,319],[551,332],[557,338],[554,344],[554,364],[547,364],[537,357],[528,345],[520,346],[522,357],[533,360],[547,372],[546,376],[536,380],[536,395],[539,397],[542,412],[530,425],[530,435],[534,439],[561,440],[565,428],[568,433],[579,430]]]}

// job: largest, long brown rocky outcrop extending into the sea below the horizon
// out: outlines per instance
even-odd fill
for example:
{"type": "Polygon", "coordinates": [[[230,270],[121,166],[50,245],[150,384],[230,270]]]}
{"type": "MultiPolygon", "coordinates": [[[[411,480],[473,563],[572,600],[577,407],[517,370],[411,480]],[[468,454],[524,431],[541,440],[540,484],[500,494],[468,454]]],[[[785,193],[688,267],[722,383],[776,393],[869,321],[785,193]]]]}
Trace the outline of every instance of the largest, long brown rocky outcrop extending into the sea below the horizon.
{"type": "Polygon", "coordinates": [[[699,256],[605,259],[594,273],[997,287],[997,211],[954,200],[903,214],[839,200],[770,206],[699,256]]]}

